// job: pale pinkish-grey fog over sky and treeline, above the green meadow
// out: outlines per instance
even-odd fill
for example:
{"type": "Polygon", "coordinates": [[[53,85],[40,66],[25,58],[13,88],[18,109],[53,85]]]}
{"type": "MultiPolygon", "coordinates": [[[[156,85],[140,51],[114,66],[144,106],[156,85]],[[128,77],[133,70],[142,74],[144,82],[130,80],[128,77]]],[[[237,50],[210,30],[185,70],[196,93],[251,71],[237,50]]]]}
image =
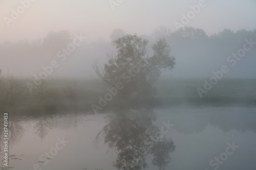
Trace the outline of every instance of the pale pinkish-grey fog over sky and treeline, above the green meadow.
{"type": "Polygon", "coordinates": [[[0,2],[3,18],[0,68],[3,75],[9,71],[15,77],[32,78],[43,71],[42,66],[56,60],[59,66],[49,78],[95,77],[93,60],[104,63],[108,60],[106,52],[115,52],[110,39],[114,29],[123,29],[125,34],[138,34],[153,44],[156,42],[154,30],[164,26],[170,32],[158,38],[167,40],[177,64],[172,72],[167,71],[162,77],[206,78],[212,76],[212,71],[228,65],[230,71],[224,78],[255,78],[254,47],[236,65],[230,66],[227,62],[229,55],[243,47],[246,38],[256,39],[253,22],[256,4],[252,0],[204,1],[197,14],[183,25],[202,29],[207,35],[203,39],[189,35],[182,38],[184,35],[177,35],[175,26],[175,22],[182,24],[182,14],[187,15],[200,1],[123,1],[115,6],[111,6],[111,1],[31,1],[25,3],[27,8],[13,19],[12,9],[17,11],[22,2],[0,2]],[[61,42],[63,30],[66,30],[66,38],[71,40],[75,35],[86,39],[65,61],[60,61],[58,51],[67,48],[67,43],[61,42]]]}

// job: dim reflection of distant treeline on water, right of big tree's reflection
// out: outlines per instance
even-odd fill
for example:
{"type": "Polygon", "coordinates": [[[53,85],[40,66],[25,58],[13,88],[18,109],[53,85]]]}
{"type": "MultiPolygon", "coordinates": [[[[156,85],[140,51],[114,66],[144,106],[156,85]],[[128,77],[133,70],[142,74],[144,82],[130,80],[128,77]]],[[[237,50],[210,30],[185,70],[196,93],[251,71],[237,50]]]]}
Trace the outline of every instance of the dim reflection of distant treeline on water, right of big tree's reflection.
{"type": "MultiPolygon", "coordinates": [[[[235,129],[239,132],[256,133],[255,108],[178,108],[166,110],[165,115],[175,124],[179,133],[193,134],[205,130],[210,125],[223,132],[235,129]]],[[[160,114],[158,114],[160,117],[160,114]]],[[[166,118],[165,117],[165,118],[166,118]]]]}

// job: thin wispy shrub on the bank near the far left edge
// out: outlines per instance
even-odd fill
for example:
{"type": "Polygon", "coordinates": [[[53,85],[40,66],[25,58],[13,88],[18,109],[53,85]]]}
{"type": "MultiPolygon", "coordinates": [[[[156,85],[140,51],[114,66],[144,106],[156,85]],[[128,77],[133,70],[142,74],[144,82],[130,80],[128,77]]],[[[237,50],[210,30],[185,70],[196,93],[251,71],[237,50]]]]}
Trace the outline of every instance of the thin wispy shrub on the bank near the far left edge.
{"type": "Polygon", "coordinates": [[[10,75],[9,72],[6,77],[4,89],[6,92],[6,101],[10,102],[10,104],[14,104],[14,101],[17,98],[17,95],[19,94],[20,82],[12,75],[10,75]]]}

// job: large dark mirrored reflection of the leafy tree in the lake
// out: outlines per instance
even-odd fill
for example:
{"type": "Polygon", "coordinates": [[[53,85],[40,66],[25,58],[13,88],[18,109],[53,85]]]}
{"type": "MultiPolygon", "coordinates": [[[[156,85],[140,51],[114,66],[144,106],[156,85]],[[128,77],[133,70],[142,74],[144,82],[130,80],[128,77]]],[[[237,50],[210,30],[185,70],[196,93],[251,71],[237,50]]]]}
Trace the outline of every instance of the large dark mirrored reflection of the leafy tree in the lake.
{"type": "Polygon", "coordinates": [[[109,151],[117,153],[113,166],[118,169],[144,169],[148,167],[147,158],[159,169],[164,169],[170,162],[169,153],[175,150],[173,140],[159,136],[159,129],[154,125],[156,114],[142,110],[119,113],[106,117],[108,125],[99,131],[94,144],[104,137],[109,151]]]}

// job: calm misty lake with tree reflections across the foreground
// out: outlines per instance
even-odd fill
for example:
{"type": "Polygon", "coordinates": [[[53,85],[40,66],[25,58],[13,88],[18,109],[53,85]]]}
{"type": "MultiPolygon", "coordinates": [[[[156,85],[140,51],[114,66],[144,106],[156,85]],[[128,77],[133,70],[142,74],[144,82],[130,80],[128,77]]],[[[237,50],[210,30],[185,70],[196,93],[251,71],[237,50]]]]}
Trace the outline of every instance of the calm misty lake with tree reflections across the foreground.
{"type": "Polygon", "coordinates": [[[11,169],[256,169],[255,107],[9,117],[11,169]]]}

